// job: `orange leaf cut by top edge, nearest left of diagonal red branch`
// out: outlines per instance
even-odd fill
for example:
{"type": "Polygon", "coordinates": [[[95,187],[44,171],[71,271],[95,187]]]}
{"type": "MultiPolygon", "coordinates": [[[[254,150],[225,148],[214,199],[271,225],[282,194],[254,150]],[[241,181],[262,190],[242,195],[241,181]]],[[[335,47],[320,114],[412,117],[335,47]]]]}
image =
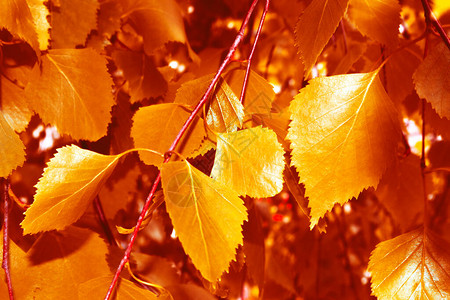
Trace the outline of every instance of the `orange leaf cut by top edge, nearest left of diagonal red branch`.
{"type": "Polygon", "coordinates": [[[174,0],[125,0],[121,4],[122,18],[131,20],[132,26],[142,35],[147,55],[152,55],[167,42],[187,41],[181,11],[174,0]]]}

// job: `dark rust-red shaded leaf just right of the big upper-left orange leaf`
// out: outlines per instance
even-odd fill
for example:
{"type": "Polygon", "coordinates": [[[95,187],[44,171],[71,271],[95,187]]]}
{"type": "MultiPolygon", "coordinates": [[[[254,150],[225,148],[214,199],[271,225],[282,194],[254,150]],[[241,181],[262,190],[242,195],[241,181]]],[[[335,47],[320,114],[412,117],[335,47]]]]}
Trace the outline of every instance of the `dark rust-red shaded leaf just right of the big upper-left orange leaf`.
{"type": "Polygon", "coordinates": [[[139,52],[114,51],[114,62],[123,70],[130,87],[131,103],[158,97],[167,90],[167,82],[156,68],[154,59],[139,52]]]}

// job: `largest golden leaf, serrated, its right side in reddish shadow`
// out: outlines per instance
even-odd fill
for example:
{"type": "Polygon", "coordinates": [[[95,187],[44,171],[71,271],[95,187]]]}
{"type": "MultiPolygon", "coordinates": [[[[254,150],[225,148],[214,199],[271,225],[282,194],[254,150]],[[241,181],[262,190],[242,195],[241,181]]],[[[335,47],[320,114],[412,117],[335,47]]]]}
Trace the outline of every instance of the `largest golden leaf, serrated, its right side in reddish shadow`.
{"type": "Polygon", "coordinates": [[[312,228],[335,203],[377,186],[401,130],[378,70],[315,78],[289,110],[292,164],[305,183],[312,228]]]}

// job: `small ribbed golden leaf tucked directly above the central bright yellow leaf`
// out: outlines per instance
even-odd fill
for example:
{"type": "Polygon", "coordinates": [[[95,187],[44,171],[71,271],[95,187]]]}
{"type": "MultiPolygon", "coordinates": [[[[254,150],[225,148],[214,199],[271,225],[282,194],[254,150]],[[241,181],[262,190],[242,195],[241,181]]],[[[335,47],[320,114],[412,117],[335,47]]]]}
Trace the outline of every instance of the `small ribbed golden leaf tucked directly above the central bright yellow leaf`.
{"type": "Polygon", "coordinates": [[[232,132],[236,131],[237,127],[242,127],[243,120],[242,103],[230,86],[222,81],[206,114],[206,122],[215,132],[232,132]]]}

